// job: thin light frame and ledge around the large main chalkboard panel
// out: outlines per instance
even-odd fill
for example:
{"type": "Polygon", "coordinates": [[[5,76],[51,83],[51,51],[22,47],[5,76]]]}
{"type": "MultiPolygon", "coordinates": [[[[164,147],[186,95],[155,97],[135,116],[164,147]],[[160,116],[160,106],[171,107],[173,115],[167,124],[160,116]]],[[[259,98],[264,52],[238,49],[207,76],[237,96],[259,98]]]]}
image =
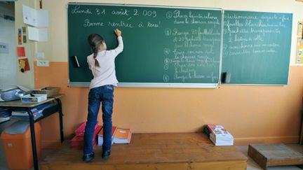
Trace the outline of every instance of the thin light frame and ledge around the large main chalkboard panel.
{"type": "MultiPolygon", "coordinates": [[[[219,71],[218,71],[218,80],[217,83],[119,83],[119,87],[184,87],[184,88],[217,88],[220,83],[220,75],[221,75],[221,64],[222,64],[222,31],[224,27],[224,16],[222,8],[198,8],[198,7],[187,7],[187,6],[149,6],[149,5],[133,5],[133,4],[120,4],[120,3],[76,3],[70,2],[67,4],[67,8],[69,5],[89,5],[89,6],[129,6],[129,7],[150,7],[150,8],[178,8],[178,9],[197,9],[197,10],[220,10],[221,11],[221,37],[220,37],[220,58],[219,58],[219,71]]],[[[68,10],[67,10],[68,15],[68,10]]],[[[67,20],[69,18],[67,17],[67,20]]],[[[69,30],[67,29],[67,32],[69,30]]],[[[68,36],[69,34],[67,34],[68,36]]],[[[68,43],[68,42],[67,42],[68,43]]],[[[69,47],[69,45],[68,45],[69,47]]],[[[69,56],[69,55],[68,55],[69,56]]],[[[69,59],[68,59],[68,62],[69,59]]],[[[89,82],[73,82],[68,80],[69,85],[72,87],[89,87],[89,82]]]]}

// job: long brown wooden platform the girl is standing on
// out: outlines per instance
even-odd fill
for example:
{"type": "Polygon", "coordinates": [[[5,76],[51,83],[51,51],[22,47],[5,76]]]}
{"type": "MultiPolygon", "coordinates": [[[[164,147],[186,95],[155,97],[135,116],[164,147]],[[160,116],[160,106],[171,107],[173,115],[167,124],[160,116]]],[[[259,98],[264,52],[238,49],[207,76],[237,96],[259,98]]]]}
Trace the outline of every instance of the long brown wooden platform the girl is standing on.
{"type": "Polygon", "coordinates": [[[109,160],[102,147],[93,162],[81,160],[82,150],[69,141],[40,162],[41,169],[246,169],[248,158],[235,146],[214,146],[201,133],[133,134],[130,144],[114,144],[109,160]]]}

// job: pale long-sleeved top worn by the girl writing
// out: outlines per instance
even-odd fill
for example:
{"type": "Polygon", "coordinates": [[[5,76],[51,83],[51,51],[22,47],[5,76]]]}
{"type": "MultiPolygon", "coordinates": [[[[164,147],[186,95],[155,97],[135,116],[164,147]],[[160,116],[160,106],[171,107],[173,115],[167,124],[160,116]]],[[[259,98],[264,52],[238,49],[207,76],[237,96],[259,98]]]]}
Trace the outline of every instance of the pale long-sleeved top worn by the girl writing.
{"type": "Polygon", "coordinates": [[[89,69],[93,73],[93,80],[90,81],[90,89],[100,87],[102,85],[114,85],[116,86],[119,82],[116,79],[116,70],[114,60],[120,52],[123,51],[123,40],[122,37],[118,38],[119,45],[114,50],[104,50],[97,53],[97,61],[100,66],[95,66],[95,59],[93,54],[87,57],[89,69]]]}

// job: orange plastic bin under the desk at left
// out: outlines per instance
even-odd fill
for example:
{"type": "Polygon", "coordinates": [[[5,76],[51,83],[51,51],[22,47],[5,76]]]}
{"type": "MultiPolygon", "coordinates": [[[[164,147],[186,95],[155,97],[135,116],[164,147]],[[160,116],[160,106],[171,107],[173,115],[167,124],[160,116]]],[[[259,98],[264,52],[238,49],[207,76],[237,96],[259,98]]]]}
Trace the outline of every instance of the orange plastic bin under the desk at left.
{"type": "MultiPolygon", "coordinates": [[[[38,160],[41,153],[41,125],[34,124],[36,134],[36,152],[38,160]]],[[[32,141],[29,122],[18,121],[6,127],[1,134],[6,161],[9,169],[30,169],[33,167],[32,141]]]]}

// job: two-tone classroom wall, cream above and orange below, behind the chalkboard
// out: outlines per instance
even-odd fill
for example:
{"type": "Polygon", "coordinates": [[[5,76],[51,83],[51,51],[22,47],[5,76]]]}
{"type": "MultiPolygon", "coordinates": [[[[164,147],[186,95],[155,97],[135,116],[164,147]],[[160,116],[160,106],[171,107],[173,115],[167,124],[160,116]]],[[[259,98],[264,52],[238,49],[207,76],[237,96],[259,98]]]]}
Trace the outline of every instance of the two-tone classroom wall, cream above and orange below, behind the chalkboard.
{"type": "MultiPolygon", "coordinates": [[[[23,1],[23,0],[22,0],[23,1]]],[[[19,5],[22,1],[18,1],[19,5]]],[[[74,1],[73,1],[74,2],[74,1]]],[[[201,132],[205,124],[224,125],[237,145],[248,143],[297,143],[302,109],[303,67],[295,66],[297,21],[303,20],[303,3],[295,0],[177,0],[177,1],[88,1],[166,6],[194,6],[232,10],[293,13],[289,85],[221,85],[219,89],[121,88],[115,89],[113,124],[135,133],[201,132]]],[[[34,67],[34,86],[57,86],[62,99],[65,136],[86,120],[88,87],[68,87],[67,5],[68,1],[43,1],[49,10],[49,39],[36,43],[45,52],[49,67],[34,67]]],[[[36,8],[38,8],[36,4],[36,8]]],[[[22,15],[19,15],[21,17],[22,15]]],[[[123,29],[122,29],[123,31],[123,29]]],[[[36,64],[34,64],[36,65],[36,64]]],[[[43,120],[44,148],[60,141],[58,115],[43,120]]],[[[101,117],[99,117],[102,122],[101,117]]]]}

